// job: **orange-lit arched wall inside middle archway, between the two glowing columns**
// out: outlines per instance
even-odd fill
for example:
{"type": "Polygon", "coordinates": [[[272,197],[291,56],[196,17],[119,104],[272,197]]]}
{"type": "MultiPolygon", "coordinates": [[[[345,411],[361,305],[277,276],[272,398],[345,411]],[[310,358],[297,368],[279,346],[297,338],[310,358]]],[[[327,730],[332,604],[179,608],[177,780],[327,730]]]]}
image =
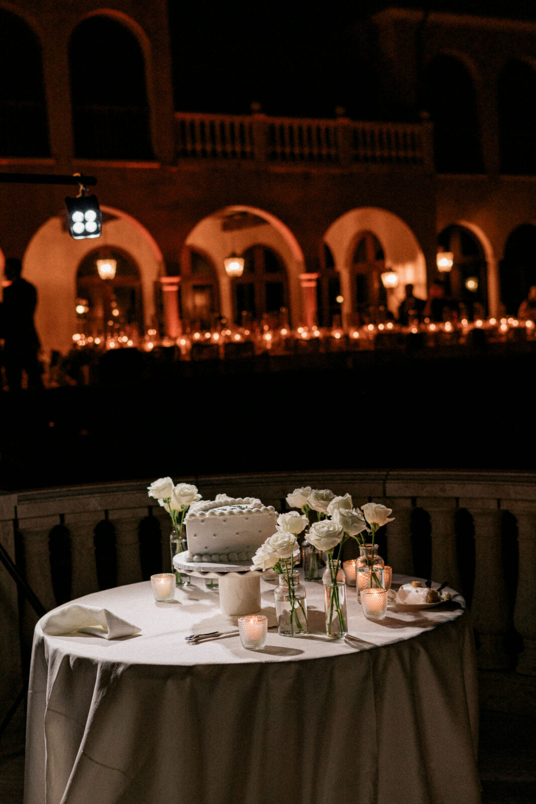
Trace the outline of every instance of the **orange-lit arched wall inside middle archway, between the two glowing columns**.
{"type": "Polygon", "coordinates": [[[241,204],[223,207],[200,220],[190,230],[185,241],[185,248],[203,249],[211,256],[219,278],[220,311],[229,321],[233,318],[232,285],[225,273],[223,260],[231,252],[235,251],[239,255],[252,245],[272,248],[283,261],[288,277],[291,324],[298,326],[302,313],[299,275],[305,272],[305,258],[296,236],[276,215],[241,204]],[[223,232],[222,219],[239,213],[251,216],[252,225],[239,231],[223,232]]]}

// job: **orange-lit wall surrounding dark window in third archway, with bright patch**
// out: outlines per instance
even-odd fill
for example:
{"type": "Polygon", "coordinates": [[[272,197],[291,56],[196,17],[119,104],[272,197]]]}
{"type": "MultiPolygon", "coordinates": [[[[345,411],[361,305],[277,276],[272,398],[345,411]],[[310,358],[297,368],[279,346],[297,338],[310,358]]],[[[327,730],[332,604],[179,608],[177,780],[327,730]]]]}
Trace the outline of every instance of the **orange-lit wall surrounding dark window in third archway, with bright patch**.
{"type": "Polygon", "coordinates": [[[341,277],[342,314],[346,320],[354,311],[351,261],[359,232],[373,232],[382,244],[385,263],[399,275],[399,285],[387,294],[387,306],[397,314],[404,298],[404,285],[414,286],[415,296],[426,298],[426,261],[419,241],[407,223],[394,212],[380,207],[360,207],[345,212],[325,232],[335,268],[341,277]]]}

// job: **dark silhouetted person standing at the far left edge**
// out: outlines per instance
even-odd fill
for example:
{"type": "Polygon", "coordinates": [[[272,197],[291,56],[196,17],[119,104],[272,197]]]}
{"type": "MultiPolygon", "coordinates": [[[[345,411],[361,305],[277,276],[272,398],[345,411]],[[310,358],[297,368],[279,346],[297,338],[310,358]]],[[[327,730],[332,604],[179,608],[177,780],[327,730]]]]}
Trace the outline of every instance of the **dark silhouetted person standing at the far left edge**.
{"type": "Polygon", "coordinates": [[[10,391],[20,391],[23,371],[28,375],[28,388],[43,388],[37,356],[40,343],[34,325],[37,291],[21,277],[22,270],[23,265],[16,257],[6,260],[4,273],[11,284],[4,288],[0,333],[4,338],[4,366],[10,391]]]}

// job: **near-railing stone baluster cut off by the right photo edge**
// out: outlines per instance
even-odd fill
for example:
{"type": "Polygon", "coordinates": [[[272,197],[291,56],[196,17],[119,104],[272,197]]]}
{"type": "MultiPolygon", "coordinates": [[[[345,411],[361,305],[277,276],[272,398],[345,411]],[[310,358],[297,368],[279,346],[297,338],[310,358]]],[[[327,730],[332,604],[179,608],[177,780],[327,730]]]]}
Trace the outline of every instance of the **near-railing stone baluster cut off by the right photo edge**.
{"type": "Polygon", "coordinates": [[[515,500],[508,509],[518,520],[519,576],[518,594],[513,609],[513,624],[523,638],[518,673],[536,675],[536,503],[515,500]]]}

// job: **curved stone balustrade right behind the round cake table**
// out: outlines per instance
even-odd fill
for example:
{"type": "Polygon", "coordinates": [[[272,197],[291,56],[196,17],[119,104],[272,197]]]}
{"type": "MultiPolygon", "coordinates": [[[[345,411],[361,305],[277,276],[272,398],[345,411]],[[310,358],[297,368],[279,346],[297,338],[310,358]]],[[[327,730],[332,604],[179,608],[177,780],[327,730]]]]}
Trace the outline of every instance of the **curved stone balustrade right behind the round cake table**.
{"type": "MultiPolygon", "coordinates": [[[[395,572],[448,580],[467,598],[484,669],[536,675],[536,474],[310,472],[184,478],[204,498],[254,495],[285,509],[296,486],[394,511],[380,553],[395,572]],[[519,653],[522,648],[521,653],[519,653]],[[519,655],[518,655],[519,654],[519,655]]],[[[0,495],[0,541],[46,609],[170,569],[170,519],[148,482],[0,495]]],[[[0,672],[20,686],[37,617],[0,564],[0,672]]],[[[9,683],[6,685],[9,689],[9,683]]],[[[16,694],[16,693],[15,693],[16,694]]]]}

